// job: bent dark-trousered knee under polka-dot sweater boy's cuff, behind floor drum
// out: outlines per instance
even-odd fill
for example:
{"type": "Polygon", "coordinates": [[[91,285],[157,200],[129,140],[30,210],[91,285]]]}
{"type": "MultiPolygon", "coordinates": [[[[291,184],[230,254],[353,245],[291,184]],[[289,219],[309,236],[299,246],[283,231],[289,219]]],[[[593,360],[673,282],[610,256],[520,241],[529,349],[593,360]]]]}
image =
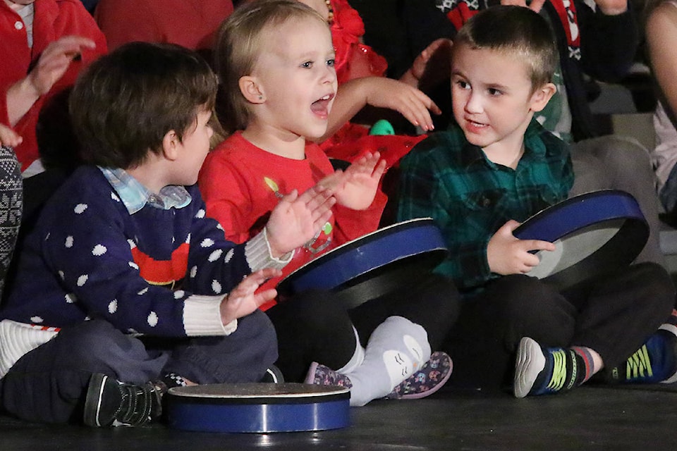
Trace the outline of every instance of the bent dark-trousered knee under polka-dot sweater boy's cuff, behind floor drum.
{"type": "Polygon", "coordinates": [[[174,347],[161,376],[178,375],[194,383],[258,382],[277,358],[272,323],[257,310],[238,319],[225,337],[200,337],[174,347]]]}

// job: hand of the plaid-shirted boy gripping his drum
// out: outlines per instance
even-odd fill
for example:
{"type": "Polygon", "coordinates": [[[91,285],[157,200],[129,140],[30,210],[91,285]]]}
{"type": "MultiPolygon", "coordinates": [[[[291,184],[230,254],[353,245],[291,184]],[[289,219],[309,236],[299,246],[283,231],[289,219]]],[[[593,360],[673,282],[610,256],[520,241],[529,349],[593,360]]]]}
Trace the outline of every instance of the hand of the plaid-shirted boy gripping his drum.
{"type": "Polygon", "coordinates": [[[541,240],[519,240],[513,235],[520,223],[512,219],[494,233],[487,245],[487,261],[493,273],[525,274],[540,262],[532,250],[554,251],[555,245],[541,240]]]}

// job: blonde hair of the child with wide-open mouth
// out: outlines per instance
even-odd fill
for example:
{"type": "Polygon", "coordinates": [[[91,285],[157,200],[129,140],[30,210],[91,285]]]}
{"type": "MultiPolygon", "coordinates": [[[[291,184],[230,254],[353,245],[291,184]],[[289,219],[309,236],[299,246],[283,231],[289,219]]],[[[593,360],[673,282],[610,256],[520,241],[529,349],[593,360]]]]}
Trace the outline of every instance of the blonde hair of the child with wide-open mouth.
{"type": "Polygon", "coordinates": [[[254,0],[238,6],[219,28],[214,68],[221,80],[219,111],[226,132],[243,130],[250,122],[250,105],[239,80],[254,70],[265,31],[289,20],[312,18],[328,27],[314,9],[296,0],[254,0]]]}

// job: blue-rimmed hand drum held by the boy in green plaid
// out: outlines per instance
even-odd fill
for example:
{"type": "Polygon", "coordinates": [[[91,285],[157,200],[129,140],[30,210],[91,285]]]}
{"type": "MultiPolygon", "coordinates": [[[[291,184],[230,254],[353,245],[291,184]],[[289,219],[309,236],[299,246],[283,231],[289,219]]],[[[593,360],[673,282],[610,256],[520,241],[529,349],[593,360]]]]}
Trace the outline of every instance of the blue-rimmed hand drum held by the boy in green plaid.
{"type": "Polygon", "coordinates": [[[633,196],[600,190],[539,211],[513,235],[554,243],[554,251],[536,252],[541,261],[527,276],[562,290],[628,266],[644,248],[649,225],[633,196]]]}

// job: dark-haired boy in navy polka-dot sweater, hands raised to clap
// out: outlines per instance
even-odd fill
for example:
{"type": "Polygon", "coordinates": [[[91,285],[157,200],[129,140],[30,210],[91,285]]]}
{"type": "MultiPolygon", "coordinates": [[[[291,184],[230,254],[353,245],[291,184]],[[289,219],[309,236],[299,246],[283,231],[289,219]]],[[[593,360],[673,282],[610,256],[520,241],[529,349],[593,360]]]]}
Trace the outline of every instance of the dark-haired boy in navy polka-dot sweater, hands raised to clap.
{"type": "Polygon", "coordinates": [[[0,396],[31,421],[138,425],[173,385],[260,381],[276,360],[257,307],[331,192],[283,197],[235,245],[195,186],[218,125],[216,77],[192,51],[132,43],[71,95],[87,165],[44,207],[0,310],[0,396]],[[84,409],[84,412],[83,412],[84,409]]]}

